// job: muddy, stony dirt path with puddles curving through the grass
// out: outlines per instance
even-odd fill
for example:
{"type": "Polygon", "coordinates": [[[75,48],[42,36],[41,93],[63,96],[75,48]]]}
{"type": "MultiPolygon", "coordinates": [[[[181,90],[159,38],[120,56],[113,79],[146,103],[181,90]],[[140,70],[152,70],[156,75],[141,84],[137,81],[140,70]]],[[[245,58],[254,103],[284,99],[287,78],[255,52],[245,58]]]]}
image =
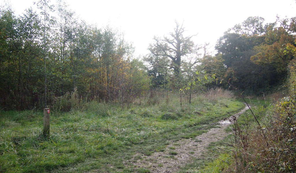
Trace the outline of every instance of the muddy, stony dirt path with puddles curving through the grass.
{"type": "MultiPolygon", "coordinates": [[[[229,119],[231,120],[233,117],[238,117],[247,109],[248,107],[246,106],[229,119]]],[[[202,154],[206,151],[206,147],[210,145],[211,142],[217,142],[229,135],[224,129],[230,124],[230,120],[219,122],[221,125],[217,125],[217,128],[212,128],[207,133],[203,133],[195,139],[169,141],[170,144],[165,148],[164,152],[155,152],[151,156],[139,156],[136,154],[133,159],[126,161],[124,164],[126,166],[133,165],[138,168],[143,167],[149,169],[152,173],[176,172],[181,166],[185,166],[186,163],[192,161],[192,157],[202,157],[202,154]],[[136,158],[139,159],[137,160],[136,158]],[[135,162],[134,160],[137,161],[135,162]]]]}

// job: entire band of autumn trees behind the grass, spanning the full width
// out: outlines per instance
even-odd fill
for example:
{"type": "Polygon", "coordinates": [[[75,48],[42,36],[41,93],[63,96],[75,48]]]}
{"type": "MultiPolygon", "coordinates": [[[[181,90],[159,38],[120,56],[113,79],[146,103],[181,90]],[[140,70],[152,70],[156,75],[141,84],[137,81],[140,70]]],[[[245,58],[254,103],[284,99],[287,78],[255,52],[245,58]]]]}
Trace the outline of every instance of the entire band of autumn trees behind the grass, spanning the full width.
{"type": "Polygon", "coordinates": [[[75,89],[84,101],[125,107],[150,88],[181,89],[189,99],[206,88],[227,87],[198,80],[197,71],[227,79],[249,94],[272,93],[287,80],[295,55],[295,18],[265,24],[262,17],[248,17],[224,32],[215,55],[207,44],[193,43],[176,21],[173,32],[153,38],[150,54],[135,58],[121,33],[87,24],[65,2],[40,1],[37,7],[40,14],[28,9],[21,16],[1,7],[0,105],[5,110],[52,107],[75,89]]]}

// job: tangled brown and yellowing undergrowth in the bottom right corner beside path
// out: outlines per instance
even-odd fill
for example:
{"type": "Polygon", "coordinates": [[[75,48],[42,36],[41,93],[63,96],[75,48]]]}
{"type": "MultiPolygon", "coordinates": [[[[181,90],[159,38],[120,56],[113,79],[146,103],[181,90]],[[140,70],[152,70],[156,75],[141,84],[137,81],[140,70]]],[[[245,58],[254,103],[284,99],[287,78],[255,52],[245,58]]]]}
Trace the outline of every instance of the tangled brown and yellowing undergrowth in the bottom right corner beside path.
{"type": "Polygon", "coordinates": [[[260,126],[235,125],[234,164],[227,172],[295,172],[295,106],[295,95],[285,97],[260,126]]]}

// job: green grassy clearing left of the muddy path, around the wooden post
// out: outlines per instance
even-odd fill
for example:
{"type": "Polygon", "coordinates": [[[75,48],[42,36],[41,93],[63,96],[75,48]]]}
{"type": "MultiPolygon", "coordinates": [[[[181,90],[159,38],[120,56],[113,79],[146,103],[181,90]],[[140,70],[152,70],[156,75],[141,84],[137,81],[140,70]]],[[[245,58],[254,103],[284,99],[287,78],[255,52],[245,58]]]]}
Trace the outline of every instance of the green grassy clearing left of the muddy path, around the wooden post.
{"type": "Polygon", "coordinates": [[[168,105],[159,97],[159,104],[141,100],[131,109],[91,102],[83,111],[51,111],[49,138],[42,136],[41,111],[1,111],[0,172],[147,172],[126,168],[123,161],[165,151],[168,141],[205,133],[244,107],[230,99],[196,98],[180,108],[171,97],[168,105]]]}

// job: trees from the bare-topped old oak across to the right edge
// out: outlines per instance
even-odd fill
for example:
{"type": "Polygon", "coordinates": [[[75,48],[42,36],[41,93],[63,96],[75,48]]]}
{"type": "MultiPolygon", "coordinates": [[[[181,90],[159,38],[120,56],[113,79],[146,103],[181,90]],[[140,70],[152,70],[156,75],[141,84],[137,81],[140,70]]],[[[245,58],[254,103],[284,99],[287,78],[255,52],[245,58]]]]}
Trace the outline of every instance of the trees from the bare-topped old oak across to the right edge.
{"type": "MultiPolygon", "coordinates": [[[[182,74],[188,74],[190,66],[186,64],[197,63],[198,66],[190,69],[206,71],[208,74],[222,77],[246,94],[262,95],[276,92],[279,88],[283,89],[279,86],[287,81],[288,66],[295,57],[296,17],[291,19],[278,17],[273,23],[264,23],[264,21],[262,17],[248,17],[241,24],[229,28],[218,39],[215,45],[218,53],[214,56],[207,52],[207,45],[195,48],[195,50],[203,50],[203,53],[198,54],[198,51],[193,51],[198,57],[194,61],[192,59],[184,61],[185,58],[183,58],[180,63],[182,74]]],[[[170,35],[172,39],[155,37],[155,43],[150,44],[149,47],[151,53],[145,59],[150,65],[148,73],[152,76],[154,86],[168,81],[165,79],[168,73],[163,69],[174,68],[169,63],[177,63],[170,58],[170,52],[182,54],[192,51],[189,41],[181,43],[183,52],[174,51],[178,46],[169,45],[180,42],[182,39],[176,39],[177,32],[170,35]]],[[[181,38],[184,41],[191,37],[181,38]]],[[[219,84],[219,82],[213,81],[207,86],[219,85],[228,88],[226,84],[219,84]]]]}

